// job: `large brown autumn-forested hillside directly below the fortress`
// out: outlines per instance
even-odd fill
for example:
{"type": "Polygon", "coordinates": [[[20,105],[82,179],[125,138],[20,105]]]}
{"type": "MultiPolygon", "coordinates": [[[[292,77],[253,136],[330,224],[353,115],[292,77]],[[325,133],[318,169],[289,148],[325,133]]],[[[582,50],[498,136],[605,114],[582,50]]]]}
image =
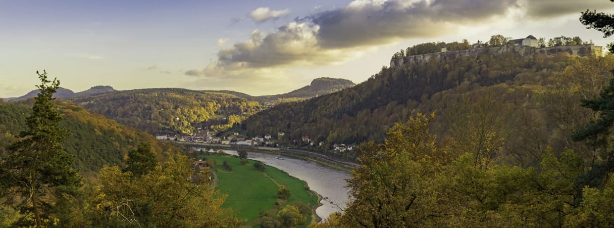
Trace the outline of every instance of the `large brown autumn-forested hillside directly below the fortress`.
{"type": "MultiPolygon", "coordinates": [[[[431,61],[398,69],[383,67],[381,72],[353,88],[308,101],[280,104],[251,116],[242,127],[251,134],[285,132],[290,140],[297,141],[308,136],[316,142],[324,142],[325,146],[367,140],[382,142],[389,127],[405,122],[415,112],[435,112],[440,117],[435,124],[440,126],[438,133],[444,133],[450,124],[445,123],[443,114],[453,107],[460,110],[462,105],[470,105],[465,102],[476,99],[471,97],[486,94],[496,94],[492,99],[515,110],[526,105],[527,112],[540,115],[535,116],[536,119],[544,118],[551,108],[545,106],[545,99],[548,94],[557,92],[554,86],[580,86],[572,85],[581,83],[580,73],[590,75],[594,74],[591,70],[601,69],[594,75],[601,83],[591,86],[598,91],[602,87],[599,85],[607,82],[610,76],[607,67],[611,65],[611,56],[594,59],[559,53],[551,57],[538,54],[524,58],[507,53],[431,61]],[[592,68],[581,70],[586,66],[592,68]],[[567,74],[566,68],[580,73],[573,73],[576,75],[569,77],[569,82],[559,82],[561,75],[567,74]]],[[[593,78],[592,82],[597,79],[593,78]]],[[[567,102],[579,107],[580,99],[574,97],[567,102]]],[[[578,109],[568,105],[572,110],[578,109]]],[[[455,118],[455,114],[458,118],[464,113],[453,113],[450,118],[455,118]]],[[[558,124],[554,122],[556,119],[546,120],[550,121],[548,131],[554,131],[553,126],[558,124]]]]}

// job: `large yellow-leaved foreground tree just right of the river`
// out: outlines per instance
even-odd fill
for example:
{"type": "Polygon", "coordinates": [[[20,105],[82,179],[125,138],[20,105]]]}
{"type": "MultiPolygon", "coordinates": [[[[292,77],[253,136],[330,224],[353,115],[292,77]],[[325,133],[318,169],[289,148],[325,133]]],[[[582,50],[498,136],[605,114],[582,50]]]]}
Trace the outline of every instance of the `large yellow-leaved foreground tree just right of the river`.
{"type": "Polygon", "coordinates": [[[342,218],[347,227],[441,226],[438,220],[451,205],[438,190],[445,181],[433,173],[449,164],[451,156],[429,134],[433,118],[418,113],[395,124],[383,145],[360,145],[362,165],[348,180],[352,200],[342,218]]]}

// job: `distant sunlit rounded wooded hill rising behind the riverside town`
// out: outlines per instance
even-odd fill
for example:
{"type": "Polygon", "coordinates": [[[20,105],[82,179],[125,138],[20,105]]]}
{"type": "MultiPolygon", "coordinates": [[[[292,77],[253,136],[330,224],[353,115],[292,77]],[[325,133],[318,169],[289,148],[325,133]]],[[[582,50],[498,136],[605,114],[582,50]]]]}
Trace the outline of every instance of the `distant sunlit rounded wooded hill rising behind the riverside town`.
{"type": "Polygon", "coordinates": [[[258,102],[235,95],[177,88],[113,91],[68,100],[149,134],[225,129],[261,110],[258,102]]]}

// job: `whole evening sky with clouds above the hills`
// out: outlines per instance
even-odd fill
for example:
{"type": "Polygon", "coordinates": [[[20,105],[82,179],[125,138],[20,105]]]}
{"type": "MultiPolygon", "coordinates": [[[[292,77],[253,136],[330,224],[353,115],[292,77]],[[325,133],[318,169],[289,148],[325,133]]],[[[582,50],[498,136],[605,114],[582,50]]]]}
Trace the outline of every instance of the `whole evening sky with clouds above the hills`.
{"type": "Polygon", "coordinates": [[[0,0],[0,97],[47,70],[79,92],[227,89],[287,93],[319,77],[360,83],[424,42],[604,38],[578,21],[607,0],[29,1],[0,0]]]}

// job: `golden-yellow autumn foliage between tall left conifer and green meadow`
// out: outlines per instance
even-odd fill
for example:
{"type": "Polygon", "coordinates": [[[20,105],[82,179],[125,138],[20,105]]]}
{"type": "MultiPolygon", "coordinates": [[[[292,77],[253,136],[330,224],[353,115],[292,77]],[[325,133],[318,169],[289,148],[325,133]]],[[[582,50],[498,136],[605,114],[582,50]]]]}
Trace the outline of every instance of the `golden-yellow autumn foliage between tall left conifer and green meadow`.
{"type": "Polygon", "coordinates": [[[99,186],[85,215],[90,227],[235,227],[239,221],[220,206],[210,172],[194,173],[187,156],[169,155],[141,178],[119,167],[101,169],[99,186]]]}

